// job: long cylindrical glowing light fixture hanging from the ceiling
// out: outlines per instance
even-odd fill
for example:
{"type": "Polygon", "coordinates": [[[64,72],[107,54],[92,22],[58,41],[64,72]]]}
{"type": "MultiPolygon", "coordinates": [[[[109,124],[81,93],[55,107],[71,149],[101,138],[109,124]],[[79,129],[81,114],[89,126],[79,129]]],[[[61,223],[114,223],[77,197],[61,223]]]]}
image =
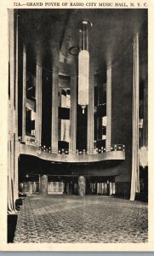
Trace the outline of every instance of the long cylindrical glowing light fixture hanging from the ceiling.
{"type": "Polygon", "coordinates": [[[78,104],[84,108],[88,105],[89,85],[89,53],[88,53],[88,26],[92,23],[88,20],[80,22],[80,52],[78,55],[78,104]]]}

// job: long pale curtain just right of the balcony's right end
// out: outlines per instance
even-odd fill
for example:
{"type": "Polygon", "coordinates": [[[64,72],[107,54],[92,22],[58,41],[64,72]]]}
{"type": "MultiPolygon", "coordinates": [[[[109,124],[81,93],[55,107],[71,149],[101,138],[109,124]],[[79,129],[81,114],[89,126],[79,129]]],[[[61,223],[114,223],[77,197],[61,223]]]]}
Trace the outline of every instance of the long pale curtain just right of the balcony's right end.
{"type": "Polygon", "coordinates": [[[132,106],[132,177],[130,200],[134,201],[135,193],[140,192],[139,169],[139,35],[134,38],[133,44],[133,106],[132,106]]]}

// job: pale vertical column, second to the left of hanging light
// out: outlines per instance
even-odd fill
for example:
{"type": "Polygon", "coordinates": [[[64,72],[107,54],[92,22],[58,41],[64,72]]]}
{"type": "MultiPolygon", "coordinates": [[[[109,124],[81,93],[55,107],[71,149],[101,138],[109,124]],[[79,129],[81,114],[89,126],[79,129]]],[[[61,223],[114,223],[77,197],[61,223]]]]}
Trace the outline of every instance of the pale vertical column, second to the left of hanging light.
{"type": "Polygon", "coordinates": [[[52,74],[52,125],[51,147],[54,153],[58,152],[58,88],[59,73],[52,74]]]}

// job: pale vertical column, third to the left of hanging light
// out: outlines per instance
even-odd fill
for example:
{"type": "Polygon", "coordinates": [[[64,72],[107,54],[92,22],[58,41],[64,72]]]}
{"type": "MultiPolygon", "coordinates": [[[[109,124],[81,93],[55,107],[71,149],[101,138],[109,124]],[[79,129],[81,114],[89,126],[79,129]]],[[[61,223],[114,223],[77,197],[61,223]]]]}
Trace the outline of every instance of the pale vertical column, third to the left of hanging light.
{"type": "Polygon", "coordinates": [[[41,144],[42,136],[42,67],[37,65],[36,83],[36,140],[41,144]]]}

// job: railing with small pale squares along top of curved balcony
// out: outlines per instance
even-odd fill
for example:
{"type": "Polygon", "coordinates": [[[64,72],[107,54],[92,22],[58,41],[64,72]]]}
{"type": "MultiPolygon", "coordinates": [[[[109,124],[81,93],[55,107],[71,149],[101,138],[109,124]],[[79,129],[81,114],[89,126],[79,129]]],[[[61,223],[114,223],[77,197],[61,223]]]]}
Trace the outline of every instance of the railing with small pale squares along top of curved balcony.
{"type": "Polygon", "coordinates": [[[26,140],[23,140],[22,137],[19,137],[19,142],[25,143],[25,144],[31,144],[32,146],[37,147],[37,149],[40,150],[40,153],[46,152],[48,154],[90,155],[90,154],[102,154],[102,153],[111,152],[111,151],[125,151],[125,145],[123,144],[113,144],[111,146],[94,148],[88,151],[86,149],[76,149],[75,152],[72,152],[71,150],[66,148],[51,148],[51,147],[47,148],[45,145],[41,145],[40,143],[38,143],[37,140],[32,137],[27,138],[26,140]]]}

